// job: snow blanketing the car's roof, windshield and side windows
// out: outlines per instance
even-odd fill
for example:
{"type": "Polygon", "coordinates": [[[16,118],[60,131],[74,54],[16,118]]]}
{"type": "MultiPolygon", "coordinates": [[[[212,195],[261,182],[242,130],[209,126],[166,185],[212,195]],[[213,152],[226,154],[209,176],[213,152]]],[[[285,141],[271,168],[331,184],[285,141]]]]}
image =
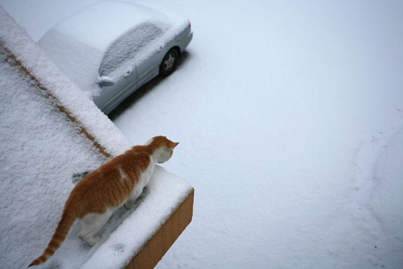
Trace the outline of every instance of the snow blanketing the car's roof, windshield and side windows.
{"type": "Polygon", "coordinates": [[[92,99],[101,92],[100,76],[119,79],[188,25],[187,18],[153,5],[95,3],[54,25],[38,44],[92,99]]]}

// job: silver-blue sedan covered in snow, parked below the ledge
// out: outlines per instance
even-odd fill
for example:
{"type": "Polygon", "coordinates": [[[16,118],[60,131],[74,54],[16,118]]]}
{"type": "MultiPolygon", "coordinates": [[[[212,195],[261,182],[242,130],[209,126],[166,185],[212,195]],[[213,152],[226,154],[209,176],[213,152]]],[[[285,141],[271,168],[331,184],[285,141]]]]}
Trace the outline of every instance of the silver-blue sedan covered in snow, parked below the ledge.
{"type": "Polygon", "coordinates": [[[171,74],[192,39],[189,20],[150,2],[97,2],[54,25],[38,45],[105,114],[171,74]]]}

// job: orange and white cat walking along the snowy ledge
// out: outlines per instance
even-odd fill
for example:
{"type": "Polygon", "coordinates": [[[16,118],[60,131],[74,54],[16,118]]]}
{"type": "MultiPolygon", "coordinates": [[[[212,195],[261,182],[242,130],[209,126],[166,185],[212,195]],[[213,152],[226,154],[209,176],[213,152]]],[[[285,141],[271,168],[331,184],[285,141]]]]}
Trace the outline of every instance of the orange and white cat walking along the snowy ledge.
{"type": "Polygon", "coordinates": [[[144,146],[133,146],[84,177],[67,199],[47,248],[28,267],[41,264],[52,256],[77,218],[83,223],[79,237],[91,246],[97,243],[101,238],[93,235],[123,203],[130,209],[149,182],[155,164],[169,160],[178,144],[164,136],[156,136],[144,146]]]}

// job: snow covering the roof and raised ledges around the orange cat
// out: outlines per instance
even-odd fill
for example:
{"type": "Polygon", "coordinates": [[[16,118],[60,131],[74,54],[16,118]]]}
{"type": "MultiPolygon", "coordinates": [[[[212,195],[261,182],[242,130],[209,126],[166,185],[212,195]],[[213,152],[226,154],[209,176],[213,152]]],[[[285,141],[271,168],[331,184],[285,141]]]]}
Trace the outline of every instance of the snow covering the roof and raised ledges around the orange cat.
{"type": "MultiPolygon", "coordinates": [[[[0,267],[26,268],[49,243],[64,202],[83,177],[77,174],[109,160],[81,127],[112,156],[132,144],[1,7],[0,29],[0,267]]],[[[37,268],[123,267],[191,189],[156,166],[131,210],[117,209],[98,232],[99,243],[84,244],[76,222],[37,268]]]]}

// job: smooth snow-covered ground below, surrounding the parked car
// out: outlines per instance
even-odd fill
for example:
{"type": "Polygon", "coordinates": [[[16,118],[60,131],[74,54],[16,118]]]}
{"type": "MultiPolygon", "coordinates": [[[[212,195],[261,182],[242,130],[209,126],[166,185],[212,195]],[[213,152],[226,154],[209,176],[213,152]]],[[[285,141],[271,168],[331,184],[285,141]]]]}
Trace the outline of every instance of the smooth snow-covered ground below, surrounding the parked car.
{"type": "MultiPolygon", "coordinates": [[[[35,41],[96,2],[0,0],[35,41]]],[[[178,70],[110,115],[195,189],[158,268],[403,267],[403,3],[157,1],[178,70]],[[119,113],[117,113],[119,112],[119,113]]]]}

